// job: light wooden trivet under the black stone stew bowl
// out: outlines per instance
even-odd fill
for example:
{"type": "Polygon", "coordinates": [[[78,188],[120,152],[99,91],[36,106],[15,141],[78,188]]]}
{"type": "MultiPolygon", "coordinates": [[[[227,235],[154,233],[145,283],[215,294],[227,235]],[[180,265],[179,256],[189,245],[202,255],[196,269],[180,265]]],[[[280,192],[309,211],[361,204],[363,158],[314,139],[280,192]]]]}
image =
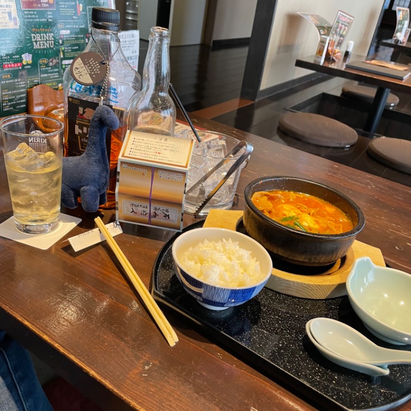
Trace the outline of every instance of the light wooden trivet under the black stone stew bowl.
{"type": "MultiPolygon", "coordinates": [[[[210,210],[203,227],[220,227],[235,231],[241,219],[242,211],[210,210]]],[[[354,240],[346,256],[338,260],[324,273],[307,275],[304,274],[303,266],[301,274],[288,273],[273,268],[266,287],[283,294],[312,300],[341,297],[347,294],[345,282],[354,260],[359,257],[370,257],[374,264],[385,267],[380,249],[354,240]]]]}

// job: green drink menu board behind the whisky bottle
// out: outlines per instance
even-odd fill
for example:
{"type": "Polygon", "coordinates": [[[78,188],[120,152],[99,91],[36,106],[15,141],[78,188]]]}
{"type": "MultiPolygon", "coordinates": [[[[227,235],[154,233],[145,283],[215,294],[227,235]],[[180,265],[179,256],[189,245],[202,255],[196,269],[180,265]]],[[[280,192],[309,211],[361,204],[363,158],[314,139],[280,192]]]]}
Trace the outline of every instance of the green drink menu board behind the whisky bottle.
{"type": "Polygon", "coordinates": [[[91,8],[114,0],[0,0],[0,117],[27,111],[27,89],[63,88],[90,38],[91,8]]]}

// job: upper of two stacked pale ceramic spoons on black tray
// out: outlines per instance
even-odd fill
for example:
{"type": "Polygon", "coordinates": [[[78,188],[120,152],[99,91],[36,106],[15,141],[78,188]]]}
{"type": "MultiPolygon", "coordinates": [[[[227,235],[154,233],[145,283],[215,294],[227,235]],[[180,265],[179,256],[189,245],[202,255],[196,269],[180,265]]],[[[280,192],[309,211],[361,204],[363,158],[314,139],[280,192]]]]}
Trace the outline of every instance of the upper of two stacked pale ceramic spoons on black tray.
{"type": "Polygon", "coordinates": [[[365,364],[411,364],[411,352],[380,347],[356,329],[330,318],[310,322],[314,339],[329,351],[365,364]]]}

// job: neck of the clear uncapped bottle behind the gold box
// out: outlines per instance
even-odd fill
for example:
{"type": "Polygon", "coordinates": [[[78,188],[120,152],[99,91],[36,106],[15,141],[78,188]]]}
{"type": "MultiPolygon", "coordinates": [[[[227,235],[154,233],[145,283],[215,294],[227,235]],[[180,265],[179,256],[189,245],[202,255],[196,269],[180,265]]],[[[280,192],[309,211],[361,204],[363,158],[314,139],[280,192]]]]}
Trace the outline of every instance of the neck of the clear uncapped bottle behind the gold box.
{"type": "Polygon", "coordinates": [[[143,68],[143,88],[168,92],[170,85],[170,39],[168,31],[153,28],[143,68]]]}

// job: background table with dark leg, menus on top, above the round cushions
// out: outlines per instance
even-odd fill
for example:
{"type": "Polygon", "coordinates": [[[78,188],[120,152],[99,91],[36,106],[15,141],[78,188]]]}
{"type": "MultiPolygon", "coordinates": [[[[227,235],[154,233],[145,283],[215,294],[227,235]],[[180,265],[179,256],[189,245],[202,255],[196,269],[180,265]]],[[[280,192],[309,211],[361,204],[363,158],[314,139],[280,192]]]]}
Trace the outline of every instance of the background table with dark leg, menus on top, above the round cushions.
{"type": "Polygon", "coordinates": [[[372,134],[376,132],[390,90],[393,89],[403,92],[410,92],[411,76],[405,80],[399,80],[388,76],[382,76],[380,74],[370,73],[368,71],[346,67],[346,64],[350,61],[365,61],[370,59],[378,60],[378,57],[374,56],[372,58],[367,58],[364,55],[351,54],[348,60],[346,58],[342,58],[338,61],[326,59],[323,64],[320,64],[315,60],[314,55],[310,55],[308,57],[297,59],[295,61],[295,65],[297,67],[329,74],[334,77],[342,77],[344,79],[356,80],[358,82],[377,86],[375,97],[372,101],[372,105],[363,127],[363,130],[366,133],[372,134]]]}

